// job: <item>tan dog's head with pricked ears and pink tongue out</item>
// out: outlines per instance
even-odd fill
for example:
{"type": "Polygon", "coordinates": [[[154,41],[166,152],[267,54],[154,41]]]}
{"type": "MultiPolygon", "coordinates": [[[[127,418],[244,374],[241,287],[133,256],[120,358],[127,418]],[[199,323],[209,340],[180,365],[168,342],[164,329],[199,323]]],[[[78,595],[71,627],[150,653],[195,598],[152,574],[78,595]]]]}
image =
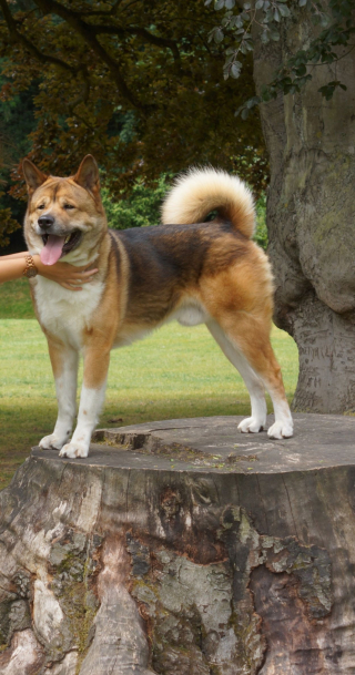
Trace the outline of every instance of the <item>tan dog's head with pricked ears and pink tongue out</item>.
{"type": "Polygon", "coordinates": [[[29,193],[24,237],[29,250],[44,265],[63,259],[75,265],[91,262],[106,231],[97,162],[87,155],[69,178],[44,175],[23,160],[29,193]]]}

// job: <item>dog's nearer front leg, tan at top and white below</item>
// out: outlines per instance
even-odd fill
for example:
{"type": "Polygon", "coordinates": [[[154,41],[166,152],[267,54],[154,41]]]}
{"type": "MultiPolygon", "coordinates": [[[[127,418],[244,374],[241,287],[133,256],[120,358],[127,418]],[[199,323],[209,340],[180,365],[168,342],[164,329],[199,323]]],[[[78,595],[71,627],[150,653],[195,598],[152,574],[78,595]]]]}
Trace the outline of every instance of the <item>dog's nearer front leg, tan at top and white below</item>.
{"type": "Polygon", "coordinates": [[[91,434],[104,401],[109,362],[109,349],[85,349],[78,425],[70,443],[62,448],[61,457],[88,457],[91,434]]]}

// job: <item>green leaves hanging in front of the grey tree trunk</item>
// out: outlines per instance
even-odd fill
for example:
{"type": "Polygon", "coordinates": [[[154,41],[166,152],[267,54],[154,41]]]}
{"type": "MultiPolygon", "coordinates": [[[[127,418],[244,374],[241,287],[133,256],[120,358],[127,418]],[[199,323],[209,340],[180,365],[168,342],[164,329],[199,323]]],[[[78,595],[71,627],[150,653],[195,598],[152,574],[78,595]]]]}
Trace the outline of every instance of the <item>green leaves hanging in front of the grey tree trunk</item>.
{"type": "MultiPolygon", "coordinates": [[[[206,0],[205,4],[211,4],[206,0]]],[[[328,0],[327,3],[320,0],[252,0],[236,6],[235,0],[215,0],[216,10],[224,9],[221,25],[214,27],[210,32],[209,40],[221,44],[226,39],[229,43],[231,34],[234,35],[234,44],[226,44],[223,72],[224,78],[237,79],[241,76],[243,62],[241,55],[248,54],[254,49],[254,37],[262,43],[278,41],[283,21],[290,20],[294,14],[308,12],[312,23],[318,25],[320,33],[311,43],[295,54],[276,71],[274,79],[265,85],[260,96],[252,96],[244,101],[237,109],[242,119],[246,120],[251,110],[261,102],[276,99],[277,94],[300,92],[301,89],[312,80],[311,67],[315,64],[329,64],[344,55],[344,49],[351,45],[351,39],[355,33],[354,25],[354,1],[353,0],[328,0]],[[336,48],[343,48],[339,52],[336,48]]],[[[302,20],[302,14],[301,14],[302,20]]],[[[292,27],[288,21],[288,30],[292,27]]],[[[327,82],[320,88],[320,93],[329,100],[334,91],[341,88],[346,90],[339,80],[327,82]]]]}

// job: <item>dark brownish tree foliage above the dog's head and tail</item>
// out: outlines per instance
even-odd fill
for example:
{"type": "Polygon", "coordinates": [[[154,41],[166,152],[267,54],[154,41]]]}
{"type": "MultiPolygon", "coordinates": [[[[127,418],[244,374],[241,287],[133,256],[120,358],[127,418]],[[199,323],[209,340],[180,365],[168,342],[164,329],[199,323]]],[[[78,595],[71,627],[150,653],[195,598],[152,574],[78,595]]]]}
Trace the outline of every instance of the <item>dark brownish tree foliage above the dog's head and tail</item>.
{"type": "MultiPolygon", "coordinates": [[[[1,99],[29,88],[36,127],[30,157],[68,175],[87,152],[110,193],[139,176],[212,163],[237,171],[256,192],[267,178],[258,113],[236,127],[253,95],[252,60],[240,85],[221,80],[223,48],[209,43],[214,10],[182,0],[0,0],[1,99]],[[252,162],[248,158],[252,157],[252,162]]],[[[13,196],[23,196],[20,167],[13,196]]]]}

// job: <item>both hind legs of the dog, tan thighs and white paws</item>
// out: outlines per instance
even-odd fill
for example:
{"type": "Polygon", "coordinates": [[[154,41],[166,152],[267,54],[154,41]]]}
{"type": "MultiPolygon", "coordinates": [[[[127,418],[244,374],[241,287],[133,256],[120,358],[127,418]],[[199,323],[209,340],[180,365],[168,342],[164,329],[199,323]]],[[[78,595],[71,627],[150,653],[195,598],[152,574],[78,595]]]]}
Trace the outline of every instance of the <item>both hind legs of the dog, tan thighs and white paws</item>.
{"type": "Polygon", "coordinates": [[[267,326],[263,321],[248,316],[247,313],[241,313],[233,318],[231,316],[221,317],[219,324],[212,321],[207,327],[224,354],[240,370],[251,396],[252,418],[250,419],[253,421],[251,422],[250,419],[243,420],[240,425],[241,431],[258,430],[257,425],[262,419],[262,410],[266,417],[264,397],[263,402],[261,399],[261,382],[263,382],[272,398],[275,413],[275,422],[267,430],[267,434],[270,438],[276,439],[293,436],[292,415],[285,395],[281,368],[270,342],[267,326]],[[239,356],[233,356],[234,360],[232,360],[231,355],[234,354],[239,356]],[[243,367],[243,358],[254,374],[255,379],[250,375],[247,368],[243,367]],[[237,361],[240,365],[237,365],[237,361]],[[254,410],[257,410],[257,415],[255,413],[256,423],[254,423],[254,410]]]}

